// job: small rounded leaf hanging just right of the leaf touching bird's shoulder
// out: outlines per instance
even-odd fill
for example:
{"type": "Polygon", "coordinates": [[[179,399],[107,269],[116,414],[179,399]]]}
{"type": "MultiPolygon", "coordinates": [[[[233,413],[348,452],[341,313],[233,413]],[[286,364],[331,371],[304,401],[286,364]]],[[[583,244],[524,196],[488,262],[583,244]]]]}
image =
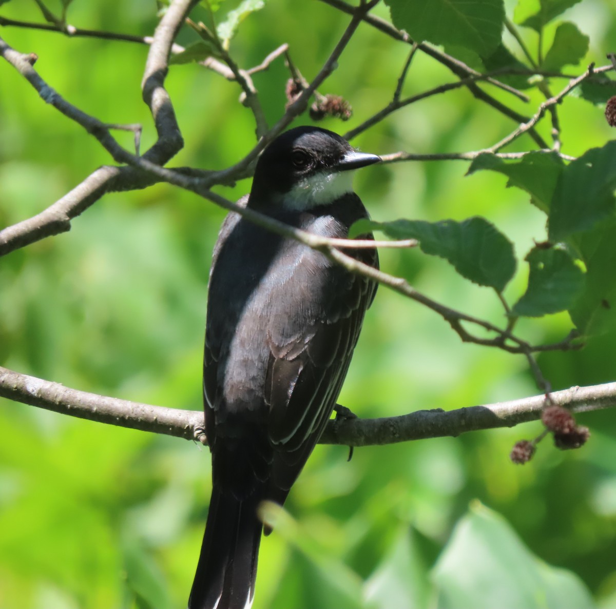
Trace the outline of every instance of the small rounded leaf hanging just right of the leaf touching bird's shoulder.
{"type": "Polygon", "coordinates": [[[584,272],[569,253],[559,248],[533,248],[526,261],[529,285],[512,313],[541,317],[569,309],[584,287],[584,272]]]}

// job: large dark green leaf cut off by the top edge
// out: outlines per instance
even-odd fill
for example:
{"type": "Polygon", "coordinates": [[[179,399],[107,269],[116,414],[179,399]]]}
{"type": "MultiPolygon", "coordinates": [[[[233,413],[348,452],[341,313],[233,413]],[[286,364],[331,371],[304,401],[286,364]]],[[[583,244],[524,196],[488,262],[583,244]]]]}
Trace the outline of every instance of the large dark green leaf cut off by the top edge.
{"type": "Polygon", "coordinates": [[[418,42],[490,54],[501,41],[503,0],[386,0],[394,25],[418,42]]]}

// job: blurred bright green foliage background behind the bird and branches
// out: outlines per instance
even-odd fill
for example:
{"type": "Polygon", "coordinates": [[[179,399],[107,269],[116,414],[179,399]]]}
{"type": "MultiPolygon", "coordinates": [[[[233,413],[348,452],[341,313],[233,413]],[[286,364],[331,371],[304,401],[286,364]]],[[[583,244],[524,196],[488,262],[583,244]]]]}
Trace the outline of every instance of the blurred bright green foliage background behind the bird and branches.
{"type": "MultiPolygon", "coordinates": [[[[507,3],[509,15],[515,4],[507,3]]],[[[69,22],[148,35],[155,12],[154,2],[76,0],[69,22]]],[[[0,14],[41,22],[34,2],[24,0],[3,4],[0,14]]],[[[375,14],[387,18],[386,7],[375,14]]],[[[616,6],[584,0],[565,18],[591,38],[585,62],[605,63],[606,52],[616,50],[616,6]]],[[[347,22],[321,2],[272,0],[242,24],[231,52],[248,68],[289,42],[310,79],[347,22]]],[[[140,97],[146,46],[21,28],[0,34],[38,54],[36,69],[71,103],[103,121],[142,123],[143,150],[155,140],[140,97]]],[[[182,31],[178,41],[194,39],[182,31]]],[[[536,45],[536,37],[527,42],[536,45]]],[[[361,25],[320,88],[344,95],[354,116],[322,126],[343,133],[389,102],[408,50],[361,25]]],[[[283,112],[287,78],[282,60],[254,76],[270,123],[283,112]]],[[[451,81],[439,63],[418,54],[404,91],[451,81]]],[[[254,145],[253,119],[235,84],[198,65],[172,67],[166,84],[186,144],[172,164],[221,169],[254,145]]],[[[541,101],[490,93],[528,115],[541,101]]],[[[612,137],[602,110],[588,102],[570,97],[559,111],[567,154],[612,137]]],[[[309,122],[306,116],[294,124],[309,122]]],[[[460,89],[395,113],[353,143],[381,154],[468,151],[515,126],[460,89]]],[[[130,134],[116,137],[130,147],[130,134]]],[[[532,148],[523,137],[511,150],[532,148]]],[[[110,161],[94,138],[0,64],[0,226],[36,214],[110,161]]],[[[376,220],[487,217],[516,243],[519,276],[506,292],[514,301],[524,290],[525,252],[545,240],[545,217],[524,193],[506,189],[505,177],[465,178],[467,168],[462,161],[376,166],[360,172],[356,190],[376,220]]],[[[243,180],[217,191],[236,199],[249,187],[243,180]]],[[[70,233],[4,257],[0,364],[76,389],[200,409],[206,284],[223,217],[195,195],[156,185],[107,195],[70,233]]],[[[493,293],[443,260],[383,251],[381,266],[444,304],[503,321],[493,293]]],[[[556,315],[521,328],[531,341],[553,341],[569,332],[570,321],[556,315]]],[[[613,381],[615,360],[610,335],[539,361],[562,389],[613,381]]],[[[436,314],[381,288],[339,401],[376,417],[537,392],[523,357],[462,344],[436,314]]],[[[361,448],[350,463],[344,446],[317,447],[286,503],[291,522],[262,543],[255,609],[616,607],[616,422],[610,411],[578,420],[591,429],[588,445],[565,453],[546,440],[524,467],[508,454],[516,440],[540,432],[538,423],[361,448]],[[521,595],[527,588],[528,598],[521,595]],[[550,599],[548,590],[569,603],[550,599]]],[[[208,450],[192,442],[0,400],[0,608],[185,606],[209,467],[208,450]]]]}

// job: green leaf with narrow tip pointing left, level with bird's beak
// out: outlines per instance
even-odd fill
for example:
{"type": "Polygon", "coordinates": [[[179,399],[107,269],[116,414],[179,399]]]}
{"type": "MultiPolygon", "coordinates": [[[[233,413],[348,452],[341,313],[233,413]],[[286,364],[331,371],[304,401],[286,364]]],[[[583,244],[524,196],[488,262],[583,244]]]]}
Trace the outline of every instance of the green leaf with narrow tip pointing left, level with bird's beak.
{"type": "Polygon", "coordinates": [[[522,188],[530,195],[530,201],[541,211],[548,212],[556,183],[564,168],[555,152],[529,152],[520,160],[507,161],[491,153],[477,156],[466,175],[480,169],[489,169],[506,175],[507,186],[522,188]]]}

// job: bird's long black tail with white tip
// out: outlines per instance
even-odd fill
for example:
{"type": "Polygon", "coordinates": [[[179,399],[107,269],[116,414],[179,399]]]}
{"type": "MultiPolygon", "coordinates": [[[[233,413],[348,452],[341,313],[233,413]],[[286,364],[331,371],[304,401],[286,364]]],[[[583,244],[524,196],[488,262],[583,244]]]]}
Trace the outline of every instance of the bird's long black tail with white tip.
{"type": "Polygon", "coordinates": [[[214,486],[188,609],[249,609],[263,525],[260,493],[237,499],[214,486]]]}

